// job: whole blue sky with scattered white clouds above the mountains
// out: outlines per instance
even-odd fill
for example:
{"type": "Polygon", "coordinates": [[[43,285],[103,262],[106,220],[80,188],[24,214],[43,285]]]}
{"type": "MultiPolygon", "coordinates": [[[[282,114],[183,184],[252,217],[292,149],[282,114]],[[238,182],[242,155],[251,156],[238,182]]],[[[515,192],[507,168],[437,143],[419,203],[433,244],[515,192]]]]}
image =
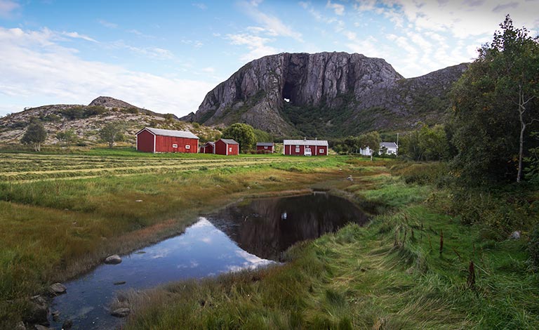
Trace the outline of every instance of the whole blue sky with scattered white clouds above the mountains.
{"type": "Polygon", "coordinates": [[[251,60],[345,51],[406,78],[477,58],[539,0],[0,0],[0,116],[100,95],[178,116],[251,60]]]}

